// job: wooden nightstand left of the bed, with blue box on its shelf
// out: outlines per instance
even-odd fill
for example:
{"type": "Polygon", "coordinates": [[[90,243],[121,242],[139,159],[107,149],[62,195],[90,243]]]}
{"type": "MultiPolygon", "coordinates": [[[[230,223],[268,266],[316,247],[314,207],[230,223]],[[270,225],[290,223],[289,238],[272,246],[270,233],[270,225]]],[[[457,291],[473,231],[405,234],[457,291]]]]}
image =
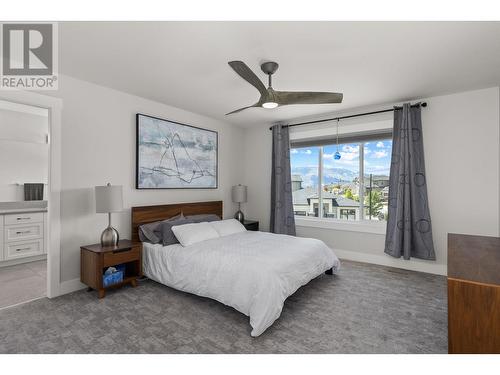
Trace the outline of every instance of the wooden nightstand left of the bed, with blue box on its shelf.
{"type": "Polygon", "coordinates": [[[103,247],[101,244],[87,245],[80,248],[80,280],[97,290],[99,298],[106,295],[106,289],[117,288],[125,284],[133,287],[142,276],[142,244],[130,240],[121,240],[117,246],[103,247]],[[108,267],[125,265],[123,281],[103,287],[102,276],[108,267]]]}

